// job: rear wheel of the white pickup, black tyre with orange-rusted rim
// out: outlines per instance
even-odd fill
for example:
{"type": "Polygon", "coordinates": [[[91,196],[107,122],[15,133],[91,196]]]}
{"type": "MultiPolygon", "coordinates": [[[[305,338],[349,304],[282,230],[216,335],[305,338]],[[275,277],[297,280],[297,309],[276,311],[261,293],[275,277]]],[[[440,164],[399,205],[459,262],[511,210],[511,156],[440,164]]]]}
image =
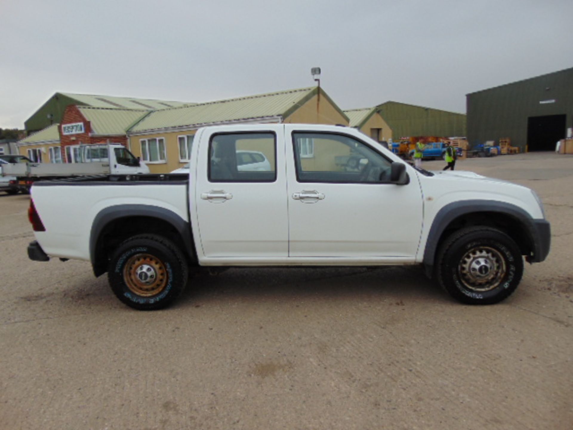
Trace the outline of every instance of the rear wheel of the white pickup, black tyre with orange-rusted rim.
{"type": "Polygon", "coordinates": [[[124,241],[109,260],[113,293],[127,306],[142,311],[169,306],[187,285],[185,257],[170,240],[140,234],[124,241]]]}

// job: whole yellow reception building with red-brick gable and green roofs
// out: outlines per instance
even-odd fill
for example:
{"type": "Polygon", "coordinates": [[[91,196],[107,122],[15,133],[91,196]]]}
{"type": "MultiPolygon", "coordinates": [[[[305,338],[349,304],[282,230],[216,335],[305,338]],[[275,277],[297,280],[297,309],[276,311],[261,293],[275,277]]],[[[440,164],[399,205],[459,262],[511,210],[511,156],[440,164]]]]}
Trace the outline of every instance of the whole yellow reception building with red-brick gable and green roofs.
{"type": "Polygon", "coordinates": [[[81,144],[121,143],[146,162],[152,173],[167,173],[189,161],[193,135],[200,127],[281,122],[347,126],[349,123],[342,110],[318,87],[209,103],[93,95],[73,95],[72,100],[69,96],[56,93],[26,121],[30,128],[44,124],[48,119],[45,112],[50,110],[58,112],[50,122],[54,119],[60,122],[20,140],[17,143],[20,154],[34,162],[73,163],[80,161],[81,144]],[[142,103],[147,106],[139,107],[142,103]],[[166,107],[169,104],[174,105],[166,107]]]}

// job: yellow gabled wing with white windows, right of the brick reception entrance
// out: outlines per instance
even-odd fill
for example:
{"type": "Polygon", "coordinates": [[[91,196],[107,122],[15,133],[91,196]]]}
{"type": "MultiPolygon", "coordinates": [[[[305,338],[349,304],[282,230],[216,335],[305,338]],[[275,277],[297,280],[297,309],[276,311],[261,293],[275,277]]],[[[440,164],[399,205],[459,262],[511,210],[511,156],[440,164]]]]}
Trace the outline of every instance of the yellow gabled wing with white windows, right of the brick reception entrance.
{"type": "Polygon", "coordinates": [[[189,162],[198,128],[248,123],[347,126],[349,121],[323,89],[291,89],[150,112],[127,131],[129,149],[151,173],[166,173],[189,162]]]}

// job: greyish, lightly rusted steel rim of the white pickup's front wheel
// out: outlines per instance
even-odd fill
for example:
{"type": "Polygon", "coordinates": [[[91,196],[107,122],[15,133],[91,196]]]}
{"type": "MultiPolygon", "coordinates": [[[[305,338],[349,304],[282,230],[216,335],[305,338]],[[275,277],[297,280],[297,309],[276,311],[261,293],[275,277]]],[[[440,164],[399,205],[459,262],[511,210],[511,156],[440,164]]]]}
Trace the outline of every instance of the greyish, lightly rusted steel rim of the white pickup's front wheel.
{"type": "Polygon", "coordinates": [[[464,286],[478,292],[490,291],[499,286],[506,271],[503,255],[491,247],[470,249],[458,265],[464,286]]]}

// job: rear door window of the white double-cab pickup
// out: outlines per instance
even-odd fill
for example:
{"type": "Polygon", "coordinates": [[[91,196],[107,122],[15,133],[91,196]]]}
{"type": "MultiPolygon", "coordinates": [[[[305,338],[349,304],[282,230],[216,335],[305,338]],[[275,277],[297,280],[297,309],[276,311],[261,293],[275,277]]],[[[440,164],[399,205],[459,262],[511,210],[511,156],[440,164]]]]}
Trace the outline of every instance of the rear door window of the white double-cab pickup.
{"type": "Polygon", "coordinates": [[[274,133],[215,134],[209,143],[210,182],[274,182],[274,133]]]}

